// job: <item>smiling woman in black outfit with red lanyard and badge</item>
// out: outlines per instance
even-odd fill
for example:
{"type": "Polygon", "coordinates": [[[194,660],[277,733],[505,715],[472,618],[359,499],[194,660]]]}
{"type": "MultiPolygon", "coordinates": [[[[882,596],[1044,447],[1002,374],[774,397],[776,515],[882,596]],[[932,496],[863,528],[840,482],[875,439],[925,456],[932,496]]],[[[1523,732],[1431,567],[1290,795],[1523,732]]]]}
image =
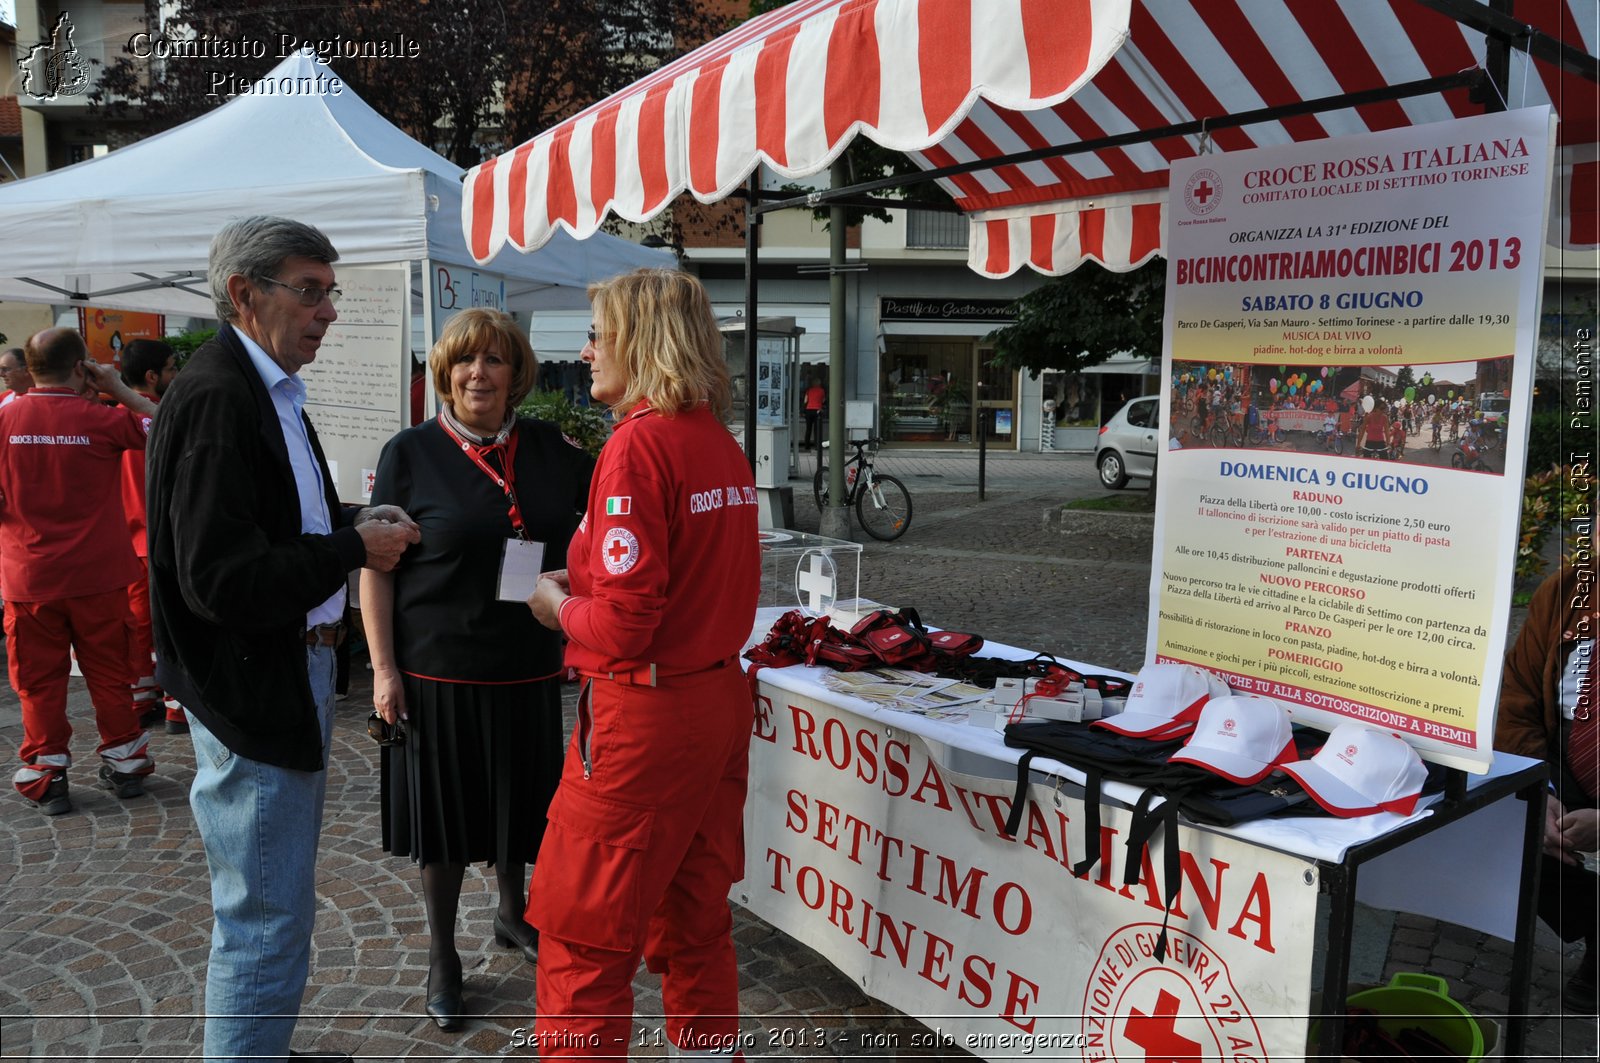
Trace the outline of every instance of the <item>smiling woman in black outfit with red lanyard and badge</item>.
{"type": "Polygon", "coordinates": [[[440,413],[389,440],[373,485],[373,504],[403,506],[422,541],[392,573],[362,570],[362,618],[373,704],[405,728],[384,751],[384,850],[422,868],[427,1013],[458,1029],[466,866],[494,866],[494,940],[533,961],[525,876],[562,773],[560,639],[528,613],[528,589],[501,586],[501,567],[533,544],[539,568],[566,565],[594,459],[515,415],[538,365],[509,315],[462,311],[427,365],[440,413]]]}

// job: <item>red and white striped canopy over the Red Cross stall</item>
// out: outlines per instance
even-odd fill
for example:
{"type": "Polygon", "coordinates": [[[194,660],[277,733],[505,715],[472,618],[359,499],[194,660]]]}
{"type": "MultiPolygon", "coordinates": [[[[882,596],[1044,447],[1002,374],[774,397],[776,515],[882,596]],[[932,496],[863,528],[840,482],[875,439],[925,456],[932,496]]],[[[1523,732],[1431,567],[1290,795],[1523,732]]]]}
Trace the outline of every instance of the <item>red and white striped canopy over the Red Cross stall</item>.
{"type": "MultiPolygon", "coordinates": [[[[1486,0],[1478,0],[1486,3],[1486,0]]],[[[1514,18],[1594,54],[1600,0],[1515,0],[1514,18]]],[[[925,168],[1454,74],[1486,42],[1419,0],[797,0],[664,66],[467,174],[480,261],[606,213],[645,221],[765,163],[826,168],[856,133],[925,168]]],[[[1507,106],[1562,115],[1552,243],[1600,247],[1592,82],[1515,53],[1507,106]]],[[[1242,150],[1480,114],[1466,90],[1245,128],[1242,150]]],[[[971,267],[1131,269],[1162,250],[1168,166],[1198,138],[1006,165],[941,183],[968,211],[971,267]]]]}

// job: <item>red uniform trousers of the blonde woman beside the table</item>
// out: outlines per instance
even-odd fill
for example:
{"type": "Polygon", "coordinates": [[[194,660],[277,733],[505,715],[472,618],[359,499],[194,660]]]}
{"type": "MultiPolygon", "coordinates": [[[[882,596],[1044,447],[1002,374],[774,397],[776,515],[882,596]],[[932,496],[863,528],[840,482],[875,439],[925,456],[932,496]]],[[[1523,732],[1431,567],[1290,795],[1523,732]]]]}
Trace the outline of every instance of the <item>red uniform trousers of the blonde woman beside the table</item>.
{"type": "Polygon", "coordinates": [[[728,890],[744,877],[752,724],[736,661],[656,687],[584,680],[528,901],[539,1058],[626,1058],[642,956],[672,1042],[744,1058],[726,1050],[739,1033],[728,890]]]}

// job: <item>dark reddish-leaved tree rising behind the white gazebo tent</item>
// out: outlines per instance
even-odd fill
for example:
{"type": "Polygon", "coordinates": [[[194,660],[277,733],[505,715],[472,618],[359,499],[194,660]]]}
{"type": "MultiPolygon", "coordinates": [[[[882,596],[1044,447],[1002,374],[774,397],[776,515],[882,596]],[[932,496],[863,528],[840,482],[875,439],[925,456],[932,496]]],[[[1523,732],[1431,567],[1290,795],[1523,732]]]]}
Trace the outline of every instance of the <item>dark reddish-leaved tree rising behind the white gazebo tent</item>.
{"type": "MultiPolygon", "coordinates": [[[[150,5],[152,11],[157,5],[150,5]]],[[[152,35],[262,45],[261,58],[139,58],[123,48],[93,96],[149,134],[227,101],[283,59],[282,40],[328,42],[362,99],[459,165],[531,138],[715,35],[707,0],[176,0],[152,35]],[[416,58],[344,58],[389,43],[416,58]]],[[[315,165],[315,160],[307,160],[315,165]]]]}

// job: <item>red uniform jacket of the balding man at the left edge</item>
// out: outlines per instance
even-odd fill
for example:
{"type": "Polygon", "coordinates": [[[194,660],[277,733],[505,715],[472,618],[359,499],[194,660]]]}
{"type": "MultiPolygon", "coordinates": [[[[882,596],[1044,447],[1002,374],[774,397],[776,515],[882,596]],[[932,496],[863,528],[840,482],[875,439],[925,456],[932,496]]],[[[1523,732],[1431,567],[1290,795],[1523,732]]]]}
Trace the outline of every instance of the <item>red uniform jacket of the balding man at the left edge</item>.
{"type": "Polygon", "coordinates": [[[66,387],[0,410],[0,589],[50,602],[125,588],[139,575],[118,479],[150,419],[66,387]]]}

